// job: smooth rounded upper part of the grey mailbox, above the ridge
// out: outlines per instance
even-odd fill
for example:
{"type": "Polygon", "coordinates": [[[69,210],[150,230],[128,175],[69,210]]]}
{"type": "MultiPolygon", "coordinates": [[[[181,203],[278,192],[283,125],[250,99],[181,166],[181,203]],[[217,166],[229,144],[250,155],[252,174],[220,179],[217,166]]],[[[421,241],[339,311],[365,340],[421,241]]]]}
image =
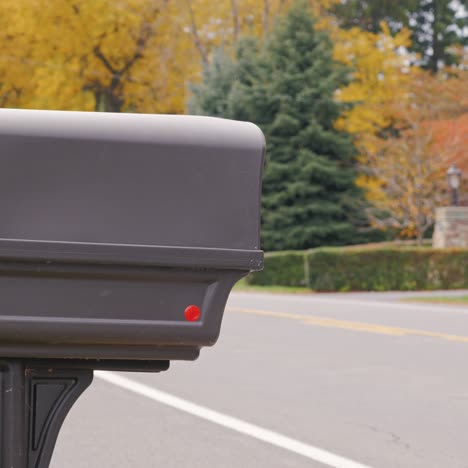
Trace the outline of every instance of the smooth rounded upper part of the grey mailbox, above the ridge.
{"type": "Polygon", "coordinates": [[[210,117],[0,109],[0,238],[258,251],[264,144],[210,117]]]}

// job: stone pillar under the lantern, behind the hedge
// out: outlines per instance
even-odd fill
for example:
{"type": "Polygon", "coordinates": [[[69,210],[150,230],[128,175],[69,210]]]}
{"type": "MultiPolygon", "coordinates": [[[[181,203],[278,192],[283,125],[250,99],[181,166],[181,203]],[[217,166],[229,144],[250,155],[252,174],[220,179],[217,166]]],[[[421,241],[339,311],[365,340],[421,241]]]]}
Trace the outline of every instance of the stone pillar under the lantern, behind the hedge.
{"type": "Polygon", "coordinates": [[[468,206],[436,209],[432,246],[468,248],[468,206]]]}

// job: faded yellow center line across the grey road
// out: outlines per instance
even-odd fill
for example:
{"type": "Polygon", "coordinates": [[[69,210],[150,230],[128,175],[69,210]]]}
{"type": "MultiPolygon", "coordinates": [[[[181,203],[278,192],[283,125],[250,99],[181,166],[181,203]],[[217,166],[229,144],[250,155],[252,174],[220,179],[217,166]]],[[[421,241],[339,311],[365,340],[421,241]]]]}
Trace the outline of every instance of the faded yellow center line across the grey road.
{"type": "Polygon", "coordinates": [[[272,310],[248,309],[244,307],[228,307],[227,310],[240,312],[242,314],[262,315],[265,317],[285,318],[315,325],[318,327],[340,328],[344,330],[360,331],[365,333],[377,333],[380,335],[393,336],[424,336],[427,338],[437,338],[439,340],[456,341],[468,343],[468,336],[450,335],[448,333],[438,333],[425,330],[414,330],[411,328],[389,327],[374,323],[351,322],[349,320],[338,320],[327,317],[317,317],[313,315],[293,314],[289,312],[275,312],[272,310]]]}

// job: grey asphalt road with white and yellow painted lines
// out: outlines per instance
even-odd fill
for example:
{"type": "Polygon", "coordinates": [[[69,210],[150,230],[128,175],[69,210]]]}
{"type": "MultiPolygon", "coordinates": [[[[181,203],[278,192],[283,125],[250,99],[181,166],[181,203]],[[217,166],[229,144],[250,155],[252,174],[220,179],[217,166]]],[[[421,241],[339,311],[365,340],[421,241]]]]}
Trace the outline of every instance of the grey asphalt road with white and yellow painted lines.
{"type": "Polygon", "coordinates": [[[235,293],[195,363],[97,375],[51,467],[467,468],[468,307],[402,296],[235,293]]]}

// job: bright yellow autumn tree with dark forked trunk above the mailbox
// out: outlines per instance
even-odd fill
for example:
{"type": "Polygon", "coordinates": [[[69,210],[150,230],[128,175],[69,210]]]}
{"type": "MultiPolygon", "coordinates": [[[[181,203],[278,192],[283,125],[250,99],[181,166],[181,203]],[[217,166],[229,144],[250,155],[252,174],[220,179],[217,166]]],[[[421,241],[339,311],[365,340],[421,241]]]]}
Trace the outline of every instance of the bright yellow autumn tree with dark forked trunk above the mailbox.
{"type": "Polygon", "coordinates": [[[11,26],[0,36],[10,47],[0,68],[5,81],[21,84],[16,94],[2,93],[4,105],[180,111],[183,83],[173,77],[182,70],[174,56],[183,50],[170,40],[171,9],[164,0],[5,0],[0,18],[11,26]]]}

